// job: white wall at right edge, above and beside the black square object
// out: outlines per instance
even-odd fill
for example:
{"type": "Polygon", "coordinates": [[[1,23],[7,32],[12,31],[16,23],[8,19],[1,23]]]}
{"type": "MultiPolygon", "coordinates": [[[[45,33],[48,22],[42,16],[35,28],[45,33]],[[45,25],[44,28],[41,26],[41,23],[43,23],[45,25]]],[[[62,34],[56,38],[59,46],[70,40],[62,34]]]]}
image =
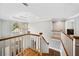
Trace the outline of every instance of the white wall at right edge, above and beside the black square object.
{"type": "Polygon", "coordinates": [[[74,35],[79,35],[79,16],[68,20],[65,24],[66,29],[74,29],[74,35]]]}

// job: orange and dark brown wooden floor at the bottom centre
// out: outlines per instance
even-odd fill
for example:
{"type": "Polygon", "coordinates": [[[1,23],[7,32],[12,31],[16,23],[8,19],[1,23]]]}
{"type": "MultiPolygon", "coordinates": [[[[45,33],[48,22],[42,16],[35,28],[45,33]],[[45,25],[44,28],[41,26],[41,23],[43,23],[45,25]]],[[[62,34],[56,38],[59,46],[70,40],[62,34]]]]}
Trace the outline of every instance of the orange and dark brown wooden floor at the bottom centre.
{"type": "Polygon", "coordinates": [[[24,50],[23,54],[18,54],[17,56],[60,56],[60,53],[52,49],[49,49],[49,53],[39,53],[29,48],[24,50]]]}

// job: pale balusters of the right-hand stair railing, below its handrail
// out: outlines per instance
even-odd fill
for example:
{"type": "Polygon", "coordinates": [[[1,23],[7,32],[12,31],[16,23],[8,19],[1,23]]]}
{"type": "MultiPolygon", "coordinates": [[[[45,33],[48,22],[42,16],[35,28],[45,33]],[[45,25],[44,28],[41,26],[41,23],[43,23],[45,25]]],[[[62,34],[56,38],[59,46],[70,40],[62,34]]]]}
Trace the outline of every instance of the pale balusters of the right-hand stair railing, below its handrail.
{"type": "Polygon", "coordinates": [[[63,43],[63,46],[66,50],[66,54],[69,56],[72,56],[73,55],[73,38],[70,38],[66,34],[61,33],[61,42],[63,43]]]}

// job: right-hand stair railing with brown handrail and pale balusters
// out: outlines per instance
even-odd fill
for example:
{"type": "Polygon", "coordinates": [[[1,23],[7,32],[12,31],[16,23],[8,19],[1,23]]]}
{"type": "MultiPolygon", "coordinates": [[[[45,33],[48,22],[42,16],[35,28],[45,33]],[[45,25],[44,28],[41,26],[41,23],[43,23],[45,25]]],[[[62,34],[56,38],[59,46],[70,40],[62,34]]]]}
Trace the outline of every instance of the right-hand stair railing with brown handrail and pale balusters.
{"type": "Polygon", "coordinates": [[[73,56],[73,37],[61,32],[61,43],[64,48],[62,51],[63,56],[73,56]]]}

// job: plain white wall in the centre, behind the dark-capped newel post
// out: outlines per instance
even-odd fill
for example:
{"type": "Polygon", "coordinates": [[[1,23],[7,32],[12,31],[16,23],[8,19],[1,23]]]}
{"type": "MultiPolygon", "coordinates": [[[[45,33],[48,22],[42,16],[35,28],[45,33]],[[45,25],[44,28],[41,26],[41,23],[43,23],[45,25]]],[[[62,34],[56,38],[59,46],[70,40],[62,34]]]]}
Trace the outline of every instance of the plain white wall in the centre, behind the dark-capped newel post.
{"type": "Polygon", "coordinates": [[[32,23],[32,24],[29,24],[29,29],[32,33],[42,32],[45,39],[49,40],[52,33],[51,32],[52,22],[44,21],[44,22],[32,23]]]}

